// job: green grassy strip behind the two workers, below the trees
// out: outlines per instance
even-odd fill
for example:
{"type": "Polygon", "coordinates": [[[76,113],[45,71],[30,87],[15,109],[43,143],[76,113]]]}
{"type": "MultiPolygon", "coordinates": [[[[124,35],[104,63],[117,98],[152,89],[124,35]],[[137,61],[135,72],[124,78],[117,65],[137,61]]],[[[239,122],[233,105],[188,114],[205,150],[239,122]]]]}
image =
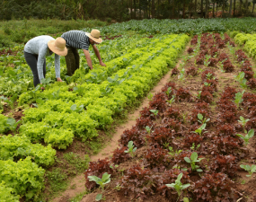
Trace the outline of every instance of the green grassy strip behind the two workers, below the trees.
{"type": "MultiPolygon", "coordinates": [[[[0,22],[0,48],[11,47],[15,43],[26,43],[28,40],[40,35],[51,35],[71,30],[82,30],[84,28],[95,28],[106,26],[107,22],[99,20],[71,20],[61,21],[49,20],[12,20],[0,22]]],[[[58,34],[60,35],[60,34],[58,34]]]]}

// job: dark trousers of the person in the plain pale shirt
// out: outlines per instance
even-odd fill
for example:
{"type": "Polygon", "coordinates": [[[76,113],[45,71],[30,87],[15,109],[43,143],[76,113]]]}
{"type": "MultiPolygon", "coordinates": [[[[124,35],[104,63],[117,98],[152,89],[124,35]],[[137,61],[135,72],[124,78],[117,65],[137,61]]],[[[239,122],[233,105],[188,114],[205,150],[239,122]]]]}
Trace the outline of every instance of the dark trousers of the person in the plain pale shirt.
{"type": "MultiPolygon", "coordinates": [[[[36,87],[40,83],[40,77],[38,73],[38,55],[33,55],[31,53],[27,53],[24,51],[24,57],[28,65],[31,67],[31,71],[33,74],[33,82],[36,87]]],[[[44,59],[43,63],[43,75],[46,75],[46,59],[44,59]]]]}

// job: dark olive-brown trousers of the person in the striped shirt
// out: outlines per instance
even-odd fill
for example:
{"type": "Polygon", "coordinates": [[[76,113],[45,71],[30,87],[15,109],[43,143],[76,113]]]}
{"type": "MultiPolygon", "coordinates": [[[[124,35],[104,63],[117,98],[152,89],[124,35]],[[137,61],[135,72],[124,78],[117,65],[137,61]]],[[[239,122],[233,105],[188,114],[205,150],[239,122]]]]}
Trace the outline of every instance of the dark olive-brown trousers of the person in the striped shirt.
{"type": "Polygon", "coordinates": [[[66,47],[67,48],[67,55],[66,59],[66,75],[74,75],[75,70],[79,69],[79,54],[76,48],[73,47],[66,47]]]}

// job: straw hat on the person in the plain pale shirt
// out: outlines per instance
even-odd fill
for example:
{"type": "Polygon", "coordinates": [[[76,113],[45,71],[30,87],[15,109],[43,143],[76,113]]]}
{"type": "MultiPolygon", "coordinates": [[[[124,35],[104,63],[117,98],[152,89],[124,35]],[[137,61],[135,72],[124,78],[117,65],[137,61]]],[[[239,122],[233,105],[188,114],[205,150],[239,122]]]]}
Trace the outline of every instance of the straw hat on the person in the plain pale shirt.
{"type": "Polygon", "coordinates": [[[48,47],[58,56],[66,56],[67,54],[66,40],[61,37],[58,37],[56,40],[49,40],[48,47]]]}

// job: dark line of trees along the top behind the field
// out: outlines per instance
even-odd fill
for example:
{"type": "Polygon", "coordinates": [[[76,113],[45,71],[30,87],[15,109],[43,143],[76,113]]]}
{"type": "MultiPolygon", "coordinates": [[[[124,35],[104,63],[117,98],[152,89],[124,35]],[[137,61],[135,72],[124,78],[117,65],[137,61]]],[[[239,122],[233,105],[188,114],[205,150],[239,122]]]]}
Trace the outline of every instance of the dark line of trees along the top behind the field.
{"type": "Polygon", "coordinates": [[[254,16],[256,0],[0,0],[0,20],[179,19],[254,16]]]}

